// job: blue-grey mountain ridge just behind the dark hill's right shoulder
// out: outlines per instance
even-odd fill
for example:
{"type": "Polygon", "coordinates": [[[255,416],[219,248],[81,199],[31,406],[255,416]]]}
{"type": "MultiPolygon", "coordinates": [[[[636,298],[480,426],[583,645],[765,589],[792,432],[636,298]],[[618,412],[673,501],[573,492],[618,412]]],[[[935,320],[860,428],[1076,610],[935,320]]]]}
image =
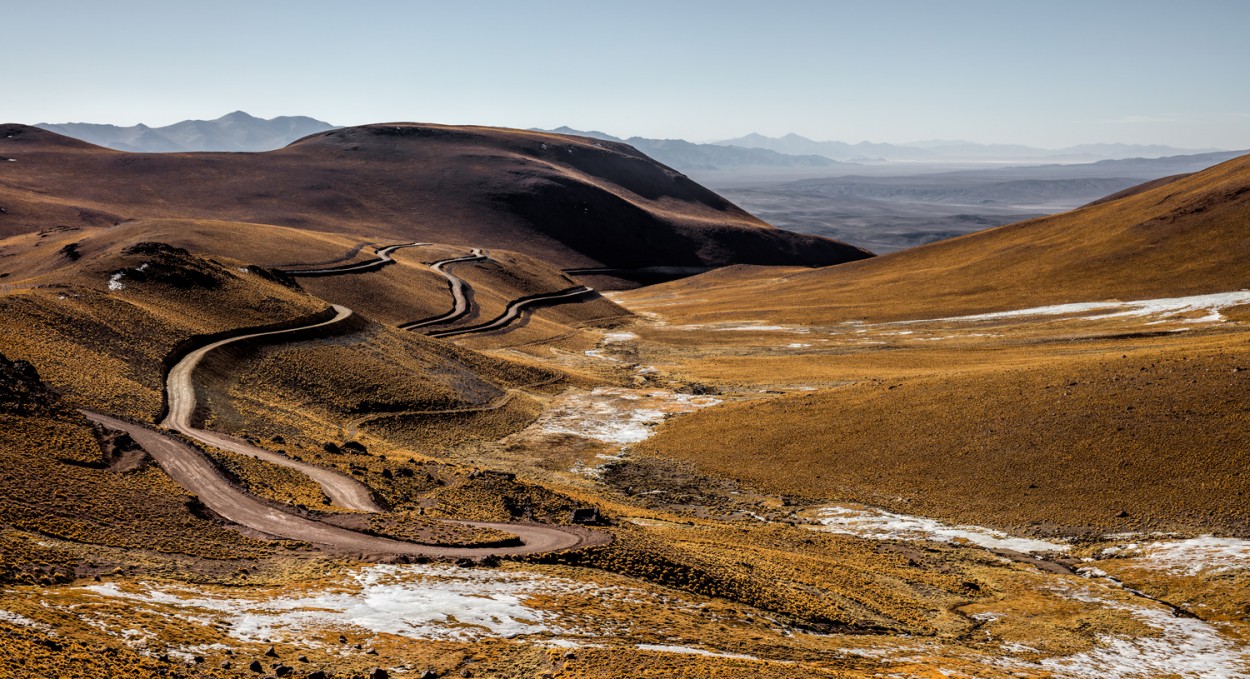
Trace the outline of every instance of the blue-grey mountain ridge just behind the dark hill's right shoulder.
{"type": "Polygon", "coordinates": [[[539,130],[570,134],[629,144],[644,154],[682,173],[699,170],[735,170],[744,168],[834,168],[842,163],[820,154],[789,154],[771,149],[748,149],[726,144],[695,144],[684,139],[648,139],[631,136],[621,139],[600,131],[574,130],[561,126],[539,130]]]}

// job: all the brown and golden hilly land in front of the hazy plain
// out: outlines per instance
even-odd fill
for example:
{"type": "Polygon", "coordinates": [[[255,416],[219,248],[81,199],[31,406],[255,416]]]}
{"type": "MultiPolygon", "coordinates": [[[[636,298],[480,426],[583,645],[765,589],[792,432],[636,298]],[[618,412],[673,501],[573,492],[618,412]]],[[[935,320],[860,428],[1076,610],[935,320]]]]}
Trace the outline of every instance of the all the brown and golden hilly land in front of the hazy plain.
{"type": "Polygon", "coordinates": [[[0,208],[0,676],[1250,676],[1250,156],[884,256],[485,128],[0,208]]]}

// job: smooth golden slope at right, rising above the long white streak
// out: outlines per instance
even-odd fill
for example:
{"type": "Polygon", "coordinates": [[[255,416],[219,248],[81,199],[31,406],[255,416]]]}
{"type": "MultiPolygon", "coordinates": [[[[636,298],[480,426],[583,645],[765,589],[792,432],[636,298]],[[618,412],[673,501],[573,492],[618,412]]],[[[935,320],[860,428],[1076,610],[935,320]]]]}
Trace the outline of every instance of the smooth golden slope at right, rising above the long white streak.
{"type": "Polygon", "coordinates": [[[735,268],[622,294],[688,321],[824,324],[1250,286],[1250,156],[1086,206],[818,270],[735,268]]]}

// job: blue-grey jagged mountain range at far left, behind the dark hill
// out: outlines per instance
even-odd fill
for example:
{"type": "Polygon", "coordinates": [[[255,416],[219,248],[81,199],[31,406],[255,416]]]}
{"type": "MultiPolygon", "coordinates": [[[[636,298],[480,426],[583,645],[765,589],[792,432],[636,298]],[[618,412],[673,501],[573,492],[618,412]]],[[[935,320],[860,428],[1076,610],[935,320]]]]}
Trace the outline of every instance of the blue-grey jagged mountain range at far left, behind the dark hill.
{"type": "Polygon", "coordinates": [[[265,120],[235,111],[216,120],[184,120],[164,128],[92,123],[40,123],[36,128],[119,151],[172,153],[271,151],[335,125],[302,115],[265,120]]]}

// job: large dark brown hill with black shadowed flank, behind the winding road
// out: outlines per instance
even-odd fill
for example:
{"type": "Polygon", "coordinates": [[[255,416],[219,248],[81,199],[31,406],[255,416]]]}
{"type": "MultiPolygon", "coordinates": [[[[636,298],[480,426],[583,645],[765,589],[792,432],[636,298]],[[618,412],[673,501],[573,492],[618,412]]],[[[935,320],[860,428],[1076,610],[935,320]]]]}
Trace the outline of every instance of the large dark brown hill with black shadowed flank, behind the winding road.
{"type": "Polygon", "coordinates": [[[389,124],[262,154],[128,154],[0,126],[0,236],[141,218],[506,248],[566,268],[826,265],[868,253],[774,229],[632,148],[389,124]]]}

